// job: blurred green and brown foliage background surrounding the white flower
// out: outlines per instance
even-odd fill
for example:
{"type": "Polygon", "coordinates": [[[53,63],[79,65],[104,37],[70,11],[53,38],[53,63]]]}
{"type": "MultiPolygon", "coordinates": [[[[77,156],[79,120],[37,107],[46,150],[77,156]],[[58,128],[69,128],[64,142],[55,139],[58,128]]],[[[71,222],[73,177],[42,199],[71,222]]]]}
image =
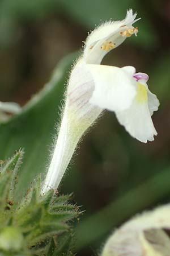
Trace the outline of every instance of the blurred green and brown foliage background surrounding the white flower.
{"type": "Polygon", "coordinates": [[[36,174],[45,172],[67,71],[77,56],[73,52],[95,24],[124,19],[129,8],[142,18],[137,22],[138,36],[127,39],[103,63],[134,65],[137,72],[148,73],[150,89],[161,103],[153,117],[158,137],[142,144],[126,133],[113,113],[106,112],[80,143],[60,191],[74,191],[74,200],[86,209],[74,224],[75,250],[82,256],[100,251],[114,228],[135,213],[170,200],[170,2],[0,2],[0,100],[25,105],[59,63],[50,89],[42,90],[21,115],[0,125],[1,159],[25,149],[19,197],[36,174]]]}

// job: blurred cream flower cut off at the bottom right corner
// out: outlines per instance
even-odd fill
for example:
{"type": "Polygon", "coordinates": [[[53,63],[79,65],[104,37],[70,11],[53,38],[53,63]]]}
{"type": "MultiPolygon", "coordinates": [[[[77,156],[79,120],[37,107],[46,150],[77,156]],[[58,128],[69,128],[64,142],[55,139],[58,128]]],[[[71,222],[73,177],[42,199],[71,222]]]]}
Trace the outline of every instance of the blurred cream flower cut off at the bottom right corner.
{"type": "Polygon", "coordinates": [[[126,222],[105,243],[101,256],[169,256],[170,204],[126,222]]]}

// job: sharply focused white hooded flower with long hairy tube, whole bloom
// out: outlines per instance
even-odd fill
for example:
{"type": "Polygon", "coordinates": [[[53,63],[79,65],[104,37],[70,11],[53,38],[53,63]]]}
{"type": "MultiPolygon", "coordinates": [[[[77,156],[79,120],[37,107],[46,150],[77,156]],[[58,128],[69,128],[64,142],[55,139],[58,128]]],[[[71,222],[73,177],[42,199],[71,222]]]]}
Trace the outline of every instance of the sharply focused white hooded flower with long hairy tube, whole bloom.
{"type": "Polygon", "coordinates": [[[42,193],[57,188],[84,131],[103,110],[116,113],[118,121],[141,142],[153,141],[156,130],[151,115],[159,101],[148,90],[148,76],[134,67],[101,65],[103,57],[127,37],[137,35],[132,10],[118,22],[106,22],[88,36],[82,56],[74,65],[66,92],[65,109],[57,144],[42,193]]]}

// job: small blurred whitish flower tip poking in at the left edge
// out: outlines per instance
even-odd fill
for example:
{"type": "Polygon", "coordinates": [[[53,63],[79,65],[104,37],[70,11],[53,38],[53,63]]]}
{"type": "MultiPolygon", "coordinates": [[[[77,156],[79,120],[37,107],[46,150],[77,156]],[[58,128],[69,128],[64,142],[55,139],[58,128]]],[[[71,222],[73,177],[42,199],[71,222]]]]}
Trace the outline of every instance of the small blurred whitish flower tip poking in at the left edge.
{"type": "Polygon", "coordinates": [[[9,114],[19,114],[21,111],[20,106],[15,102],[2,102],[0,101],[0,123],[5,122],[10,118],[9,114]]]}

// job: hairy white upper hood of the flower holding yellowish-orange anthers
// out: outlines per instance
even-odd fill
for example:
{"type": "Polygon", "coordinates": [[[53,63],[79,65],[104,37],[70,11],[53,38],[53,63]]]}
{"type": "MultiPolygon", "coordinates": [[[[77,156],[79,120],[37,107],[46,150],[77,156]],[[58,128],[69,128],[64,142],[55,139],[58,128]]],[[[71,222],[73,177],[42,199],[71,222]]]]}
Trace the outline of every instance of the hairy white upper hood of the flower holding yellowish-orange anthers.
{"type": "Polygon", "coordinates": [[[138,30],[132,26],[140,19],[135,19],[136,16],[137,14],[129,10],[124,20],[116,22],[109,20],[97,26],[84,43],[84,60],[90,64],[100,64],[109,51],[118,47],[127,37],[136,35],[138,30]],[[125,35],[121,32],[125,32],[125,35]]]}

